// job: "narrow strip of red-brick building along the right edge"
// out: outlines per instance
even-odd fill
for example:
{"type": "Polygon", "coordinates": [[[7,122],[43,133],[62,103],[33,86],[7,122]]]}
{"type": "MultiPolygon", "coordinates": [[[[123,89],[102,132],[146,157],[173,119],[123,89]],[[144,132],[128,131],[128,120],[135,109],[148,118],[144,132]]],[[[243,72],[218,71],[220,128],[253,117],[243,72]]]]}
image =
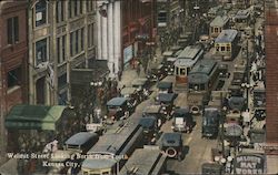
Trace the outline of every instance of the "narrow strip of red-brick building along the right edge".
{"type": "Polygon", "coordinates": [[[265,2],[266,35],[266,153],[278,155],[278,3],[265,2]]]}

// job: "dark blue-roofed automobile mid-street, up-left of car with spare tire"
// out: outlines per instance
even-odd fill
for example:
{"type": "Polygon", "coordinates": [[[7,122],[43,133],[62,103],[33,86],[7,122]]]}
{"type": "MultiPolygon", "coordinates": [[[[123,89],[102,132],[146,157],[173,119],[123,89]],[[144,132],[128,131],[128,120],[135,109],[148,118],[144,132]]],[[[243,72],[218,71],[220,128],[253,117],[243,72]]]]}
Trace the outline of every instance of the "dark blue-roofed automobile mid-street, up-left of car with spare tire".
{"type": "Polygon", "coordinates": [[[177,94],[175,93],[159,93],[156,97],[156,103],[162,106],[162,111],[168,120],[171,119],[173,113],[173,100],[176,99],[177,94]]]}

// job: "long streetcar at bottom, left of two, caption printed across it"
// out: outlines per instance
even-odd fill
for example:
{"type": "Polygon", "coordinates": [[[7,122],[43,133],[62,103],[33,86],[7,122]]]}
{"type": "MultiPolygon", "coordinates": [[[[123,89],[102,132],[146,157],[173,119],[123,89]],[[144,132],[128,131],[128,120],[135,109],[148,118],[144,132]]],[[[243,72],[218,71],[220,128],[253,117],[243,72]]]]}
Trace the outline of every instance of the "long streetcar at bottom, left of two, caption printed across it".
{"type": "Polygon", "coordinates": [[[81,165],[83,175],[118,175],[136,148],[143,145],[143,130],[139,117],[115,123],[92,146],[81,165]]]}

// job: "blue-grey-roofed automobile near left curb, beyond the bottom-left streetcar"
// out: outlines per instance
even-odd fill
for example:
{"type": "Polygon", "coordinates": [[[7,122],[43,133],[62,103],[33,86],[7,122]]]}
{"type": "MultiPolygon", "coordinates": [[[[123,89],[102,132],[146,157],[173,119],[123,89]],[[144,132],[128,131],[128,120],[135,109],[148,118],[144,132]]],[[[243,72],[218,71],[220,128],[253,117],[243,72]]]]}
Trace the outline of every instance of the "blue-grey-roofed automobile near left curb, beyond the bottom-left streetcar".
{"type": "Polygon", "coordinates": [[[112,124],[118,120],[127,119],[135,107],[126,97],[113,97],[107,102],[107,111],[106,123],[112,124]]]}

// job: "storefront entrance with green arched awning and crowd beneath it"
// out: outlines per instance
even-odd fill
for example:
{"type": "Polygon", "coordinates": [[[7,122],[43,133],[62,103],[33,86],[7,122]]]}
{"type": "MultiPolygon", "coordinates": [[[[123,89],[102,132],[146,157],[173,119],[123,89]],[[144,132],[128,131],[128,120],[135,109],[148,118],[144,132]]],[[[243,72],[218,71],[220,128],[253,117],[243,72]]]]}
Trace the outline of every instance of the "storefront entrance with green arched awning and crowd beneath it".
{"type": "Polygon", "coordinates": [[[62,105],[16,105],[4,120],[8,152],[42,152],[47,143],[63,141],[77,132],[78,119],[62,105]]]}

